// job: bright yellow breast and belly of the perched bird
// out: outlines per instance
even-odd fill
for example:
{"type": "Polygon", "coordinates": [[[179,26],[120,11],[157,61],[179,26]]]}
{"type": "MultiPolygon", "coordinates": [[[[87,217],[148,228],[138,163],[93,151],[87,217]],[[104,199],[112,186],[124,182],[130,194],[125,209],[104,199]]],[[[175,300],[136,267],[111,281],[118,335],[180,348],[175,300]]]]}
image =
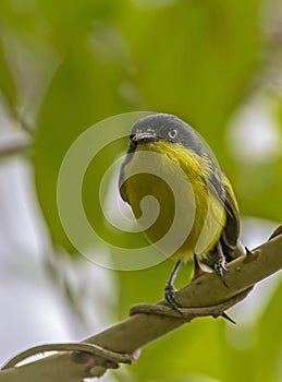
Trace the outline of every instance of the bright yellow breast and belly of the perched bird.
{"type": "Polygon", "coordinates": [[[149,241],[173,260],[204,256],[225,223],[203,165],[188,153],[170,142],[146,143],[123,168],[123,199],[149,241]]]}

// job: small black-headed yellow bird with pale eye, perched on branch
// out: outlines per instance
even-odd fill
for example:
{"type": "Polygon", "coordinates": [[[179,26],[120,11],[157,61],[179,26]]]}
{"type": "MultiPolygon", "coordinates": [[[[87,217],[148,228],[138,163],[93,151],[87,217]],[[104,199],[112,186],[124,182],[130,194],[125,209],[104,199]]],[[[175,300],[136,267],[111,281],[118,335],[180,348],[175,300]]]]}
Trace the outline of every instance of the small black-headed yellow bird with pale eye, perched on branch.
{"type": "Polygon", "coordinates": [[[224,282],[225,264],[244,253],[240,212],[232,186],[196,131],[180,118],[155,114],[130,133],[120,193],[147,239],[175,265],[164,288],[179,309],[173,282],[194,258],[224,282]],[[156,203],[157,201],[157,203],[156,203]]]}

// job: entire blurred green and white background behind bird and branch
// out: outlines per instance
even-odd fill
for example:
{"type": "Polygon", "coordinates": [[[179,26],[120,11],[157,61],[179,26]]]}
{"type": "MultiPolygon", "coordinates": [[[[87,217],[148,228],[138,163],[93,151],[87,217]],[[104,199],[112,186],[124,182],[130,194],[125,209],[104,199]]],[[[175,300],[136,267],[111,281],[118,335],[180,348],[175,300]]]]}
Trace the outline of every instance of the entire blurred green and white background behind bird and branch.
{"type": "MultiPolygon", "coordinates": [[[[233,183],[243,242],[267,240],[282,216],[281,68],[279,0],[1,0],[1,363],[36,344],[79,341],[124,319],[131,305],[162,297],[170,261],[134,272],[98,266],[60,224],[62,159],[105,118],[151,110],[189,122],[233,183]]],[[[126,144],[113,142],[95,158],[82,190],[103,239],[91,251],[113,259],[112,267],[108,243],[145,244],[105,218],[108,208],[118,226],[123,220],[111,179],[98,204],[101,178],[126,144]]],[[[189,273],[188,264],[177,286],[189,273]]],[[[280,382],[281,310],[278,274],[230,311],[237,325],[195,320],[101,380],[280,382]]]]}

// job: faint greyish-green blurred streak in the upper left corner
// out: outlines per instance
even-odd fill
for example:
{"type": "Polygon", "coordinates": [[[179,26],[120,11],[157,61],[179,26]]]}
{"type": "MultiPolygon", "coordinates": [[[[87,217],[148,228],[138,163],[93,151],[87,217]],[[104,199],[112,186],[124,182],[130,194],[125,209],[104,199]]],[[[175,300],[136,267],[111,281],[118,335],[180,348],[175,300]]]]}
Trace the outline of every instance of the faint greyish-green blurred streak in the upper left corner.
{"type": "Polygon", "coordinates": [[[16,91],[16,112],[13,117],[27,124],[29,130],[36,124],[42,99],[61,63],[59,50],[49,44],[48,39],[37,40],[37,37],[34,37],[36,34],[48,35],[53,32],[48,21],[36,13],[34,5],[36,7],[34,0],[28,0],[27,4],[13,0],[12,4],[15,12],[22,16],[35,12],[30,28],[36,32],[21,39],[21,43],[25,44],[20,44],[17,36],[9,29],[4,29],[1,36],[5,61],[16,91]]]}

